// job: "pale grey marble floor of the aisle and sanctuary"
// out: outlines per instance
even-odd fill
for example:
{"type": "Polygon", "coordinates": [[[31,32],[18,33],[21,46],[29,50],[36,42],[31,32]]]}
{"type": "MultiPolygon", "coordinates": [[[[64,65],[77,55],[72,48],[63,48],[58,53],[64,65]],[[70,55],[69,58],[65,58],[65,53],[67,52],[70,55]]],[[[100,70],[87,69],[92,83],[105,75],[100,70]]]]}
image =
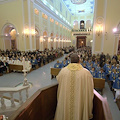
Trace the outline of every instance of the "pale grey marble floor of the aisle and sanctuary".
{"type": "MultiPolygon", "coordinates": [[[[64,57],[59,58],[59,61],[62,61],[64,57]]],[[[50,68],[54,66],[56,61],[57,60],[28,73],[27,79],[33,84],[33,86],[29,89],[29,97],[32,96],[38,89],[57,83],[55,78],[51,80],[50,75],[50,68]]],[[[0,76],[0,87],[15,87],[19,83],[23,82],[23,80],[23,73],[4,74],[3,76],[0,76]]],[[[22,92],[22,95],[23,101],[25,101],[25,92],[22,92]]],[[[6,94],[6,96],[9,96],[9,94],[6,94]]],[[[14,94],[14,98],[18,99],[18,97],[18,94],[14,94]]],[[[113,101],[113,94],[110,91],[107,83],[105,84],[103,97],[108,100],[113,120],[120,120],[120,111],[116,103],[113,101]]]]}

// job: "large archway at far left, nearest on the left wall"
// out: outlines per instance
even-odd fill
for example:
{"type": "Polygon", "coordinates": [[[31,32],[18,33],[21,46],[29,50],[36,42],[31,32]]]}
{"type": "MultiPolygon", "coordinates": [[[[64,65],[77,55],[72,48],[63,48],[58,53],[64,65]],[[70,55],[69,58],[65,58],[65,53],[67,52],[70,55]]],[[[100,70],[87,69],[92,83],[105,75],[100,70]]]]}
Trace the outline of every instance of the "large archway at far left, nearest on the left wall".
{"type": "Polygon", "coordinates": [[[18,49],[18,41],[17,35],[19,34],[16,27],[7,23],[2,28],[3,41],[4,41],[4,49],[18,49]]]}

